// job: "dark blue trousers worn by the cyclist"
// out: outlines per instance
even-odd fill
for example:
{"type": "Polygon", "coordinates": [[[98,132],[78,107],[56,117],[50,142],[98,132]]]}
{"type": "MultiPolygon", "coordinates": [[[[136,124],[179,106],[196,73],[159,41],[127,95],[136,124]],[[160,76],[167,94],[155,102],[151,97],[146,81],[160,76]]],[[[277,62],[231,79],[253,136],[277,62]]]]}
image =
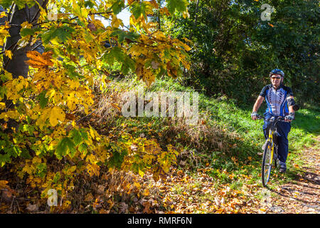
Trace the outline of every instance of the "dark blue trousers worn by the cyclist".
{"type": "MultiPolygon", "coordinates": [[[[265,113],[265,118],[269,119],[274,115],[270,113],[265,113]]],[[[269,136],[270,122],[265,120],[263,125],[263,133],[265,134],[265,139],[267,140],[269,136]]],[[[291,130],[291,124],[288,122],[279,121],[277,123],[277,144],[278,144],[278,158],[280,160],[280,165],[285,164],[288,157],[288,134],[291,130]]]]}

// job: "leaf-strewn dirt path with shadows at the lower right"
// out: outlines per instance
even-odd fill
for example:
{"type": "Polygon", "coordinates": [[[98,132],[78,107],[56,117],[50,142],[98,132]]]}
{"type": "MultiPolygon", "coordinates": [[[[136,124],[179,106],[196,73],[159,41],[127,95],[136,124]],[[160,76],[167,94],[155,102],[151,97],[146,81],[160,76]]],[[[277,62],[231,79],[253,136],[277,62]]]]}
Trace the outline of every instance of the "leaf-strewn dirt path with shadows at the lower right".
{"type": "Polygon", "coordinates": [[[302,155],[304,172],[296,180],[265,190],[262,204],[267,213],[320,214],[320,136],[316,145],[306,148],[302,155]]]}

